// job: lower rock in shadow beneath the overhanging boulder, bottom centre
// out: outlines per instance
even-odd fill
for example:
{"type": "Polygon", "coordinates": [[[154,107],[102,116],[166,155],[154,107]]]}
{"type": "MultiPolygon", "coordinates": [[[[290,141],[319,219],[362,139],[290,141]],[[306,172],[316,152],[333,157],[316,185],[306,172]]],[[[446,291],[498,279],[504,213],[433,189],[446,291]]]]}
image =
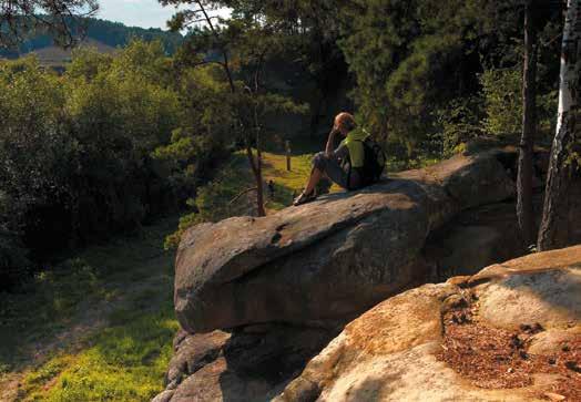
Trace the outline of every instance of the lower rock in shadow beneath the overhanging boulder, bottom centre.
{"type": "Polygon", "coordinates": [[[281,393],[336,332],[286,326],[175,337],[166,389],[154,402],[267,401],[281,393]]]}

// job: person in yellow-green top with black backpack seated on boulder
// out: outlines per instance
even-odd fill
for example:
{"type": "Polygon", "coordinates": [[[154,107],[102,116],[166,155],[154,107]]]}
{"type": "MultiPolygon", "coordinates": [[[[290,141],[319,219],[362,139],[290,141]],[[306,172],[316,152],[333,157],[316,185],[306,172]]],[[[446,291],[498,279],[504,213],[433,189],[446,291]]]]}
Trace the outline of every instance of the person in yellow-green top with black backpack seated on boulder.
{"type": "Polygon", "coordinates": [[[363,175],[364,142],[368,134],[365,131],[357,128],[351,114],[346,112],[338,114],[329,133],[325,152],[318,153],[313,158],[313,171],[307,186],[293,205],[297,206],[314,200],[316,198],[315,188],[325,175],[345,189],[361,188],[365,184],[363,175]],[[334,151],[337,135],[345,140],[334,151]]]}

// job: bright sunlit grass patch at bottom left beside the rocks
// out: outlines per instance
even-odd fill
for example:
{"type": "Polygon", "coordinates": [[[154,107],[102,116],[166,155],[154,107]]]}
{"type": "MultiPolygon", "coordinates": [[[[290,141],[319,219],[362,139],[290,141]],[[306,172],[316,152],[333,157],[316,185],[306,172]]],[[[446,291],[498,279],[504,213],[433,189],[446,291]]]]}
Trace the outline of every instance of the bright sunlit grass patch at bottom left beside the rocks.
{"type": "Polygon", "coordinates": [[[171,300],[160,311],[115,312],[116,326],[78,354],[58,355],[24,379],[24,401],[147,401],[163,389],[177,330],[171,300]]]}

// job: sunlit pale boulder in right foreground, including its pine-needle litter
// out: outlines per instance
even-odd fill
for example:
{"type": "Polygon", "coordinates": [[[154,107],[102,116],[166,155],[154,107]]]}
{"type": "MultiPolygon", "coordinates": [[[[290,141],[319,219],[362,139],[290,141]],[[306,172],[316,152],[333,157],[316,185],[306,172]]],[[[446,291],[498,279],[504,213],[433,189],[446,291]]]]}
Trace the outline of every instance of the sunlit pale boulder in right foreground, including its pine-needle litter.
{"type": "Polygon", "coordinates": [[[579,357],[581,246],[381,302],[277,401],[573,401],[581,396],[579,357]],[[462,333],[472,336],[458,354],[462,333]]]}

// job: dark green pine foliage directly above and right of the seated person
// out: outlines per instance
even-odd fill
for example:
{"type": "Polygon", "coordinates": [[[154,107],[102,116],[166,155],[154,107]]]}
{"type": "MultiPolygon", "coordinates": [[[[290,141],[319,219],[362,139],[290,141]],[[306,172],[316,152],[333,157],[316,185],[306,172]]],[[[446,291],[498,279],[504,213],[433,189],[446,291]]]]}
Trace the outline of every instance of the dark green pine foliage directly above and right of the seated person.
{"type": "Polygon", "coordinates": [[[475,1],[357,1],[344,20],[339,45],[361,120],[381,137],[421,141],[432,107],[455,91],[452,69],[479,27],[475,1]]]}

